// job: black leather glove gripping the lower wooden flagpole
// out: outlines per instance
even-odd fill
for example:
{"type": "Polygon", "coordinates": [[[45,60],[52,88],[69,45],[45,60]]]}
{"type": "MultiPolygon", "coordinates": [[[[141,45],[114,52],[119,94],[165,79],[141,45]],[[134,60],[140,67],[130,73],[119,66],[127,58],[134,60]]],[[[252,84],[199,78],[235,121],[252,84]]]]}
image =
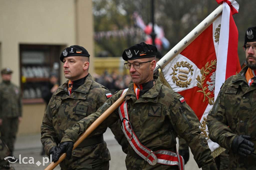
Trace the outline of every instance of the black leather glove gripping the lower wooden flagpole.
{"type": "Polygon", "coordinates": [[[57,151],[52,157],[52,161],[57,162],[62,153],[67,153],[67,159],[70,159],[72,155],[73,146],[74,146],[74,142],[72,141],[60,143],[59,148],[57,149],[57,151]]]}

